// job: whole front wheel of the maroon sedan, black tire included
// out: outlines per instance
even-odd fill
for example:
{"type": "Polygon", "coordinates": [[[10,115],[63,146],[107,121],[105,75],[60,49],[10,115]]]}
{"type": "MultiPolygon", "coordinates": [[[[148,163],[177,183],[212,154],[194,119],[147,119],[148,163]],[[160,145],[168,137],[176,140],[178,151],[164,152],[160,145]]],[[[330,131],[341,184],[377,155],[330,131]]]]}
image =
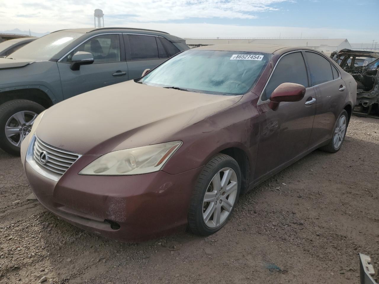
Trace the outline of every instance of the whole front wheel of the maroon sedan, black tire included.
{"type": "Polygon", "coordinates": [[[233,213],[240,195],[240,188],[241,170],[235,159],[225,154],[218,154],[212,158],[197,178],[190,199],[189,229],[200,236],[209,236],[219,231],[233,213]],[[217,176],[220,177],[218,179],[220,187],[215,185],[218,184],[217,176]],[[223,179],[228,176],[230,178],[223,179]],[[206,193],[207,198],[211,200],[209,202],[204,202],[206,193]]]}

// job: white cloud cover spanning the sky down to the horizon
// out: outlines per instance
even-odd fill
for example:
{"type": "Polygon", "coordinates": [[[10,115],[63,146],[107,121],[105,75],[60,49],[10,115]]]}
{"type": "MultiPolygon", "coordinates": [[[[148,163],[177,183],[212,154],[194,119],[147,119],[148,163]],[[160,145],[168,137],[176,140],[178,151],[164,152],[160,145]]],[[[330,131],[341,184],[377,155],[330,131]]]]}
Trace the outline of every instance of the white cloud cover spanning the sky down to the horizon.
{"type": "MultiPolygon", "coordinates": [[[[375,0],[376,1],[376,0],[375,0]]],[[[0,0],[1,2],[1,0],[0,0]]],[[[136,27],[168,31],[180,37],[282,37],[327,36],[348,38],[349,42],[379,39],[378,31],[359,29],[269,27],[269,18],[262,12],[287,11],[294,0],[13,0],[2,5],[1,29],[47,31],[85,28],[94,25],[94,9],[103,9],[106,27],[136,27]],[[283,8],[281,8],[283,7],[283,8]],[[284,8],[285,7],[285,8],[284,8]],[[213,18],[250,22],[264,18],[266,26],[216,25],[213,18]],[[191,20],[193,19],[193,20],[191,20]],[[197,23],[185,23],[186,21],[197,23]],[[199,22],[201,21],[201,22],[199,22]],[[175,23],[176,22],[176,23],[175,23]],[[181,23],[177,23],[181,22],[181,23]]],[[[230,21],[229,21],[230,22],[230,21]]],[[[284,24],[285,25],[285,24],[284,24]]],[[[343,25],[341,25],[343,27],[343,25]]]]}

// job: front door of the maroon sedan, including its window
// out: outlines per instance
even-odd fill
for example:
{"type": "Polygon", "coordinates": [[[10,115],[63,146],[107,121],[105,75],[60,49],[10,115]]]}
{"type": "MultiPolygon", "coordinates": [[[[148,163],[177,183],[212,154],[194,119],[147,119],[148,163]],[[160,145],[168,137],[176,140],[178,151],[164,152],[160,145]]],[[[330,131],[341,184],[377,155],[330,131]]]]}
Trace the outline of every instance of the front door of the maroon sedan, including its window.
{"type": "Polygon", "coordinates": [[[314,99],[315,92],[309,88],[308,72],[301,51],[282,56],[257,105],[261,120],[256,182],[308,150],[315,115],[314,99]],[[268,106],[269,97],[282,83],[305,86],[305,95],[301,101],[282,102],[273,111],[268,106]]]}

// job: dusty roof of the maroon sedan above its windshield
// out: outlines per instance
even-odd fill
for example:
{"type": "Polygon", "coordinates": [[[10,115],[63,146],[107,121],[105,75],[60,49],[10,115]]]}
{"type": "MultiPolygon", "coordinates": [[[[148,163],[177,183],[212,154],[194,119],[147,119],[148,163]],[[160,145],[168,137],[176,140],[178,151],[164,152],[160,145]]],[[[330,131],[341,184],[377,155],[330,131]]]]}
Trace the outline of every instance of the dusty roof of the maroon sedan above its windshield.
{"type": "Polygon", "coordinates": [[[236,52],[257,52],[257,53],[285,53],[291,50],[314,50],[307,47],[289,47],[279,44],[218,44],[206,45],[193,48],[193,50],[215,50],[215,51],[236,51],[236,52]]]}

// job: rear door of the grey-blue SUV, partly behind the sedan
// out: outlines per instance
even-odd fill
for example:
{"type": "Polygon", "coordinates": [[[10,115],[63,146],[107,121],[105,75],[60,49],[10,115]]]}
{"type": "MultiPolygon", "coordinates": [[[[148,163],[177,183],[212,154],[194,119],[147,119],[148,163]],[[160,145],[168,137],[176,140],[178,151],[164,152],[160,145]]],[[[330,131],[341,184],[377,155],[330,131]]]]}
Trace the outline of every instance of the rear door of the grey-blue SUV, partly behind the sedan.
{"type": "Polygon", "coordinates": [[[146,34],[123,34],[129,80],[139,78],[145,69],[153,69],[169,58],[160,37],[146,34]]]}

